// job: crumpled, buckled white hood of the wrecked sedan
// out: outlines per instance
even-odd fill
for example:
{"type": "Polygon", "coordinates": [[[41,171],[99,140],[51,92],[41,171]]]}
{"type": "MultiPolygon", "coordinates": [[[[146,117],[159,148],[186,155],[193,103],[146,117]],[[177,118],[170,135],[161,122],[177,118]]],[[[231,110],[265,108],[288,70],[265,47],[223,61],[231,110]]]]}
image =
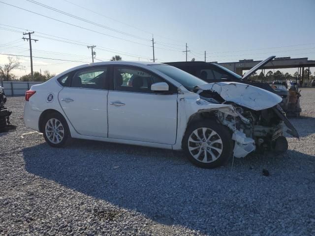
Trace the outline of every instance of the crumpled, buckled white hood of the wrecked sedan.
{"type": "Polygon", "coordinates": [[[275,93],[238,82],[218,82],[198,85],[196,89],[213,90],[227,102],[260,111],[271,108],[282,101],[275,93]]]}

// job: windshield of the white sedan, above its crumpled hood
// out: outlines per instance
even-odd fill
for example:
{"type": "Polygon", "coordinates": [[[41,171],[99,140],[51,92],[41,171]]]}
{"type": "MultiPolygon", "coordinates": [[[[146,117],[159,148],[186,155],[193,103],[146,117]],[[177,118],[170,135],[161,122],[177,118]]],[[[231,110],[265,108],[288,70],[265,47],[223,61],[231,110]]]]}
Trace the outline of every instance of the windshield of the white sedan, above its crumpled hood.
{"type": "Polygon", "coordinates": [[[174,66],[170,66],[170,65],[150,65],[150,66],[153,66],[158,71],[176,80],[178,83],[182,84],[186,89],[190,91],[192,91],[192,89],[197,85],[208,84],[207,82],[204,82],[203,80],[193,75],[190,75],[189,73],[181,69],[178,69],[174,66]]]}

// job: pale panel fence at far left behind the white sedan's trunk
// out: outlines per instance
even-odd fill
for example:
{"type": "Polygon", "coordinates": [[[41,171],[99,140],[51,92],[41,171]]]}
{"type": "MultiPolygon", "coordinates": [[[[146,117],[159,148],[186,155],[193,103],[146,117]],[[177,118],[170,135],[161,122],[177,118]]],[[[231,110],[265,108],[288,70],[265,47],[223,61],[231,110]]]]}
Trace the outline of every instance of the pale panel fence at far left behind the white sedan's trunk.
{"type": "Polygon", "coordinates": [[[21,82],[21,81],[1,81],[0,86],[4,88],[5,95],[18,96],[24,95],[32,85],[41,84],[43,82],[21,82]]]}

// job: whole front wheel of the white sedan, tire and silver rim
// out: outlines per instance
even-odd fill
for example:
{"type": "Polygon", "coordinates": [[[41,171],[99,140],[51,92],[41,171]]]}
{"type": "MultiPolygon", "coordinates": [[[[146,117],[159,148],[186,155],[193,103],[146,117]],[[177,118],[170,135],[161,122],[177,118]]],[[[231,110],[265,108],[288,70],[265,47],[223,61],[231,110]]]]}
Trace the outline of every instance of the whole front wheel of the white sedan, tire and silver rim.
{"type": "Polygon", "coordinates": [[[183,149],[194,165],[206,169],[216,168],[232,155],[231,133],[221,124],[197,122],[189,126],[183,149]]]}

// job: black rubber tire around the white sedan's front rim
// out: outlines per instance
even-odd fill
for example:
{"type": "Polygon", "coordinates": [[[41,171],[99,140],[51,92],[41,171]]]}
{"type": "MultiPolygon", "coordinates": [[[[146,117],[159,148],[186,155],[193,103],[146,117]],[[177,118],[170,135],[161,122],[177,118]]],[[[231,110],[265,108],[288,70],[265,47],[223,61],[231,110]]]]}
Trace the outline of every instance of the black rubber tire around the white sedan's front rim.
{"type": "Polygon", "coordinates": [[[183,139],[183,149],[189,161],[192,164],[198,167],[204,168],[204,169],[213,169],[213,168],[223,165],[228,160],[228,158],[232,155],[233,153],[232,134],[226,126],[218,124],[214,120],[201,120],[199,122],[190,124],[189,127],[187,128],[184,139],[183,139]],[[221,154],[218,157],[218,159],[212,162],[205,163],[205,162],[199,161],[195,159],[189,151],[189,137],[190,135],[192,135],[193,131],[199,128],[210,128],[211,130],[215,131],[221,138],[221,141],[222,141],[222,146],[220,147],[221,154]]]}

